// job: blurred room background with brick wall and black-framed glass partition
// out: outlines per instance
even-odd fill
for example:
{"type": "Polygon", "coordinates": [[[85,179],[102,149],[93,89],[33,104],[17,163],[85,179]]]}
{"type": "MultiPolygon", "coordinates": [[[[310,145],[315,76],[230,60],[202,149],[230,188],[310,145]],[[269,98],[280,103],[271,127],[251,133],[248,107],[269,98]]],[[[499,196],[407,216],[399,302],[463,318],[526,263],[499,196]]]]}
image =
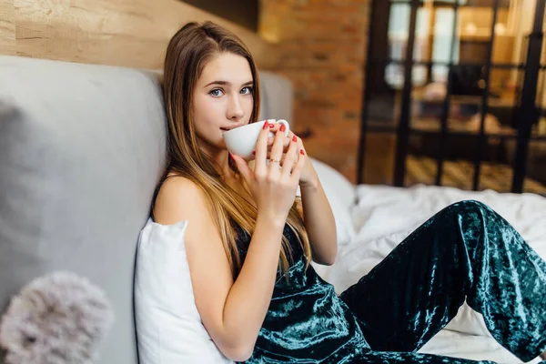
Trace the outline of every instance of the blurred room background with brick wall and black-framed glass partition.
{"type": "Polygon", "coordinates": [[[354,182],[546,194],[541,0],[187,3],[278,45],[298,134],[354,182]]]}

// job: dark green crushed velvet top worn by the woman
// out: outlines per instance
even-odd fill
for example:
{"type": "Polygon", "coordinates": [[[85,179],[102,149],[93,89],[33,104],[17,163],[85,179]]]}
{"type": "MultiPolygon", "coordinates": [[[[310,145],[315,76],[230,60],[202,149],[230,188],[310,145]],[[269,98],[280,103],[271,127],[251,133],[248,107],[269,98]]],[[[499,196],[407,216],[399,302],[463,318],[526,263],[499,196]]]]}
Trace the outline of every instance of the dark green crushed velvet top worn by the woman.
{"type": "MultiPolygon", "coordinates": [[[[247,363],[339,362],[369,349],[358,319],[338,298],[332,285],[324,281],[306,258],[296,234],[288,224],[284,236],[291,247],[288,281],[277,272],[273,297],[258,334],[254,353],[247,363]]],[[[241,261],[250,243],[248,234],[238,231],[241,261]]]]}

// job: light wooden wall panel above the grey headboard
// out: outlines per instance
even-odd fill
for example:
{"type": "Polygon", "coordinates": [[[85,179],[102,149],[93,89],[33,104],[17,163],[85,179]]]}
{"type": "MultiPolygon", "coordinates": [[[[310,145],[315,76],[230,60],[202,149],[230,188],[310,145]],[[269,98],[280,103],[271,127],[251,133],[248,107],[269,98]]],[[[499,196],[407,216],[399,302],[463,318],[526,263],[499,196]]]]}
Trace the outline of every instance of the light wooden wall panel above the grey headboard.
{"type": "Polygon", "coordinates": [[[258,66],[277,66],[275,45],[177,0],[0,0],[0,9],[0,54],[161,68],[168,40],[182,25],[212,20],[240,36],[258,66]]]}

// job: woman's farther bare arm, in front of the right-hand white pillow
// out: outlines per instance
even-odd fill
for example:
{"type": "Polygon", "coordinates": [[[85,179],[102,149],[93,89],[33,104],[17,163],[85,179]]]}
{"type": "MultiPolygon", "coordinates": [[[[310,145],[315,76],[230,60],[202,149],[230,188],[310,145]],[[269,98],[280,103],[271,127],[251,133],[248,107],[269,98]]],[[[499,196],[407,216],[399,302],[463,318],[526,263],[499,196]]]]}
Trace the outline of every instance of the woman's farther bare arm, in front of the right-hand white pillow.
{"type": "Polygon", "coordinates": [[[312,167],[310,160],[308,160],[308,164],[309,168],[313,170],[311,176],[314,175],[314,177],[299,186],[303,220],[308,232],[313,260],[319,264],[331,266],[338,254],[336,222],[317,172],[312,167]]]}

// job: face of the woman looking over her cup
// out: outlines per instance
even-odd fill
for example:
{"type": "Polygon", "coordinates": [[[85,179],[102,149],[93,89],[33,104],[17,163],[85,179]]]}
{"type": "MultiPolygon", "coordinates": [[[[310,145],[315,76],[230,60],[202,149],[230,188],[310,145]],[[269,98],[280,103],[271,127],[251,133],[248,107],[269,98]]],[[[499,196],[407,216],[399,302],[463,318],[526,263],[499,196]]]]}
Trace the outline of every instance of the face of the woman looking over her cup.
{"type": "Polygon", "coordinates": [[[254,106],[252,84],[250,66],[242,56],[221,53],[204,67],[193,107],[197,136],[209,152],[226,149],[226,130],[248,124],[254,106]]]}

